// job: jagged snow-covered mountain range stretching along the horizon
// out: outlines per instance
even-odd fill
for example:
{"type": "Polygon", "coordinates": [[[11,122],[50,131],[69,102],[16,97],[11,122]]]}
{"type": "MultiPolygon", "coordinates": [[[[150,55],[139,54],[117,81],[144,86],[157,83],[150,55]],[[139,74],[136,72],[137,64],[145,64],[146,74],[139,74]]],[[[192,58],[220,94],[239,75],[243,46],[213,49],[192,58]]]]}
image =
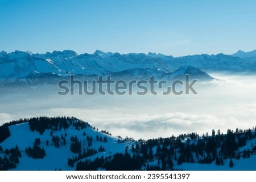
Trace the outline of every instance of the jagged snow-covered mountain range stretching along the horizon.
{"type": "MultiPolygon", "coordinates": [[[[53,78],[67,77],[71,74],[82,77],[113,74],[114,77],[122,78],[144,78],[151,74],[156,78],[174,78],[171,76],[172,72],[188,65],[203,71],[251,72],[256,70],[256,56],[255,51],[238,51],[231,56],[201,54],[184,57],[155,53],[104,53],[101,50],[96,50],[93,54],[77,54],[72,50],[45,54],[18,50],[12,53],[2,51],[0,81],[1,84],[17,81],[32,83],[39,78],[51,81],[53,78]]],[[[204,75],[199,75],[199,78],[204,78],[204,75]]]]}

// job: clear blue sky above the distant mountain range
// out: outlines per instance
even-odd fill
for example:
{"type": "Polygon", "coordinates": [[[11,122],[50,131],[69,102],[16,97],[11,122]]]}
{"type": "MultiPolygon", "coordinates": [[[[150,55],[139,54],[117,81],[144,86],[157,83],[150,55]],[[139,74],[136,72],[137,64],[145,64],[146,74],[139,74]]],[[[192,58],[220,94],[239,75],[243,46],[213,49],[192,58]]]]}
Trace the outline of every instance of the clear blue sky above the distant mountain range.
{"type": "Polygon", "coordinates": [[[255,8],[255,0],[0,0],[0,50],[247,52],[256,49],[255,8]]]}

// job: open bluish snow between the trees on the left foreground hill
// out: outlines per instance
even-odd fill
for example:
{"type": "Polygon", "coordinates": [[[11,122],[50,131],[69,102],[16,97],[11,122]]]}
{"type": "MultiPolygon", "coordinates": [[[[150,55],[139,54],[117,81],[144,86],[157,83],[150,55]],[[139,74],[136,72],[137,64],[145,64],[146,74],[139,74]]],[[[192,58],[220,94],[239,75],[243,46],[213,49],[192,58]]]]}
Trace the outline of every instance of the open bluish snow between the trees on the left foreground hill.
{"type": "MultiPolygon", "coordinates": [[[[73,122],[76,122],[74,119],[73,122]]],[[[75,167],[68,166],[68,158],[75,158],[78,154],[74,154],[71,151],[71,137],[77,137],[81,142],[81,152],[84,149],[95,149],[97,151],[96,154],[89,156],[86,159],[94,159],[97,156],[109,156],[115,153],[125,153],[126,146],[130,147],[133,142],[118,142],[124,141],[123,139],[110,136],[109,134],[105,134],[99,132],[96,129],[91,128],[90,126],[81,129],[75,126],[70,126],[68,129],[58,129],[53,131],[51,134],[51,129],[45,130],[43,134],[39,132],[32,132],[30,129],[30,125],[28,122],[22,124],[16,124],[9,126],[11,136],[2,143],[0,146],[5,149],[11,149],[15,146],[19,147],[21,151],[21,158],[19,158],[19,163],[16,164],[16,168],[13,170],[75,170],[75,167]],[[56,147],[52,141],[52,136],[57,136],[60,138],[60,146],[56,147]],[[92,137],[92,145],[89,145],[86,137],[92,137]],[[66,139],[66,143],[64,145],[63,139],[66,139]],[[97,137],[102,138],[102,141],[97,141],[97,137]],[[106,142],[103,141],[103,138],[106,137],[106,142]],[[34,141],[36,138],[40,138],[40,145],[46,151],[46,156],[43,159],[34,159],[28,157],[25,149],[28,147],[32,147],[34,145],[34,141]],[[47,145],[47,141],[49,142],[47,145]],[[98,151],[100,146],[104,147],[105,151],[98,151]]],[[[0,151],[0,157],[4,157],[4,153],[0,151]]]]}

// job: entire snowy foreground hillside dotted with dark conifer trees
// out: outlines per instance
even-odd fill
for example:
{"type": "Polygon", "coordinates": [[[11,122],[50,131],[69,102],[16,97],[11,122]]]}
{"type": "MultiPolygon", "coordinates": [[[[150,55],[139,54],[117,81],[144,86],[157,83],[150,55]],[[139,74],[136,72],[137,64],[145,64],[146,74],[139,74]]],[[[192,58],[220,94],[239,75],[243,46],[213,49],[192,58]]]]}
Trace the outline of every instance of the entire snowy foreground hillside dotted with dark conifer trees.
{"type": "Polygon", "coordinates": [[[256,170],[255,129],[133,141],[77,118],[40,117],[0,131],[1,170],[256,170]]]}

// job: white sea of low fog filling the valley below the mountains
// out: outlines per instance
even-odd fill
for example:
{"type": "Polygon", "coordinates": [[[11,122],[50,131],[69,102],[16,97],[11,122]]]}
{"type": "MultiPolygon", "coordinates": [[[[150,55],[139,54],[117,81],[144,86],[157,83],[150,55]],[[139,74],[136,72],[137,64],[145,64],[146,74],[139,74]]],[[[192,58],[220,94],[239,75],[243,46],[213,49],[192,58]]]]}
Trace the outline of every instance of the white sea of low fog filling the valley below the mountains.
{"type": "Polygon", "coordinates": [[[0,125],[25,117],[74,116],[113,136],[135,139],[255,127],[255,75],[210,75],[218,80],[196,82],[197,95],[60,96],[49,88],[1,90],[0,125]]]}

